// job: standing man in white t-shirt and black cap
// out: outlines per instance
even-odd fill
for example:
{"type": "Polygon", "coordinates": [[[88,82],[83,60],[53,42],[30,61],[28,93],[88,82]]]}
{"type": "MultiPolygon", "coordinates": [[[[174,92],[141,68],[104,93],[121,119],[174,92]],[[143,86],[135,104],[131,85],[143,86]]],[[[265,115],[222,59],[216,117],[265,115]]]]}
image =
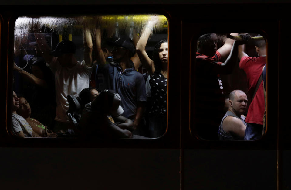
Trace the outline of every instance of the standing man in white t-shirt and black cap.
{"type": "MultiPolygon", "coordinates": [[[[41,36],[36,36],[38,44],[46,45],[41,36]]],[[[42,49],[45,49],[42,48],[42,49]]],[[[42,55],[48,67],[56,78],[56,125],[55,132],[71,128],[66,112],[69,104],[66,99],[68,94],[77,96],[84,88],[89,87],[91,63],[77,61],[75,57],[76,45],[69,40],[61,41],[51,53],[43,51],[42,55]]]]}

